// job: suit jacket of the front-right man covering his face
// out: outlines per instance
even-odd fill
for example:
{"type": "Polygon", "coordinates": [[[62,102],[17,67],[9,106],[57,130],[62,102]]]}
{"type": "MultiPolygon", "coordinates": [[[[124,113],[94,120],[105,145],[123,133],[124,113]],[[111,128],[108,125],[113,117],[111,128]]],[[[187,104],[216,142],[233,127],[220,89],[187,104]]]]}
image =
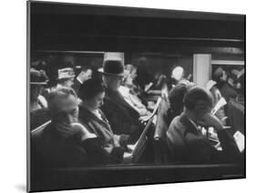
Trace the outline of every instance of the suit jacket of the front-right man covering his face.
{"type": "Polygon", "coordinates": [[[220,163],[238,161],[241,156],[235,141],[226,129],[217,132],[222,151],[212,147],[185,114],[175,117],[169,125],[167,142],[174,161],[189,163],[220,163]]]}

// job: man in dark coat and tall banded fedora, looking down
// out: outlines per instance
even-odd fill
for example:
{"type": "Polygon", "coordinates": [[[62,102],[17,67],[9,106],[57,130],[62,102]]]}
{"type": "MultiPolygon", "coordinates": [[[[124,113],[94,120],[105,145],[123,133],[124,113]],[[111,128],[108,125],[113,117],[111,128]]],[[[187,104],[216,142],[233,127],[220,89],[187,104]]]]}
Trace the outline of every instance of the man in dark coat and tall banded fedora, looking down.
{"type": "Polygon", "coordinates": [[[123,76],[125,76],[124,65],[120,58],[106,58],[103,67],[98,69],[103,75],[106,86],[104,105],[101,107],[105,113],[113,132],[117,135],[129,135],[128,143],[135,142],[142,129],[138,120],[139,114],[126,102],[118,92],[123,76]]]}

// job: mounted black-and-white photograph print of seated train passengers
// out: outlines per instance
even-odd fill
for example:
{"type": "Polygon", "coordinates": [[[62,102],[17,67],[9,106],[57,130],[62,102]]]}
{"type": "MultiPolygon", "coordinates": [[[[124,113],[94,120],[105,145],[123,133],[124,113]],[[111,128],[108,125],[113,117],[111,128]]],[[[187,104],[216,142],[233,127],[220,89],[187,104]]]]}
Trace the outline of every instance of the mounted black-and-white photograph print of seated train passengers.
{"type": "Polygon", "coordinates": [[[245,54],[245,15],[28,1],[28,190],[245,178],[245,54]]]}

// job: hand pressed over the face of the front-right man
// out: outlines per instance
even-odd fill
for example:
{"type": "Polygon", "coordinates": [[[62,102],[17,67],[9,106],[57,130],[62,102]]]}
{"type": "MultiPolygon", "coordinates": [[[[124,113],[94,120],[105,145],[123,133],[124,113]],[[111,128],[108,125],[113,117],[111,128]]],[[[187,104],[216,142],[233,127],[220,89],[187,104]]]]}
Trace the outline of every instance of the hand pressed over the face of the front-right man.
{"type": "Polygon", "coordinates": [[[214,127],[217,131],[223,129],[218,117],[215,117],[210,113],[204,114],[204,116],[201,117],[197,122],[203,127],[214,127]]]}

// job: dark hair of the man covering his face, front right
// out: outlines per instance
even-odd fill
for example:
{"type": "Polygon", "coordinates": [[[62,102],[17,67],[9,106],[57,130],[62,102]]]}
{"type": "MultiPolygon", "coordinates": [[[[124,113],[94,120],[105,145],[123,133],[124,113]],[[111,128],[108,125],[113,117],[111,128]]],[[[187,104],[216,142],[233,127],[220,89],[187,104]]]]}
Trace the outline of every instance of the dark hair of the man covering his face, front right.
{"type": "Polygon", "coordinates": [[[199,102],[203,103],[201,104],[202,108],[212,107],[213,100],[210,92],[199,86],[189,88],[184,96],[184,106],[189,110],[195,110],[196,108],[199,108],[197,107],[199,102]]]}

